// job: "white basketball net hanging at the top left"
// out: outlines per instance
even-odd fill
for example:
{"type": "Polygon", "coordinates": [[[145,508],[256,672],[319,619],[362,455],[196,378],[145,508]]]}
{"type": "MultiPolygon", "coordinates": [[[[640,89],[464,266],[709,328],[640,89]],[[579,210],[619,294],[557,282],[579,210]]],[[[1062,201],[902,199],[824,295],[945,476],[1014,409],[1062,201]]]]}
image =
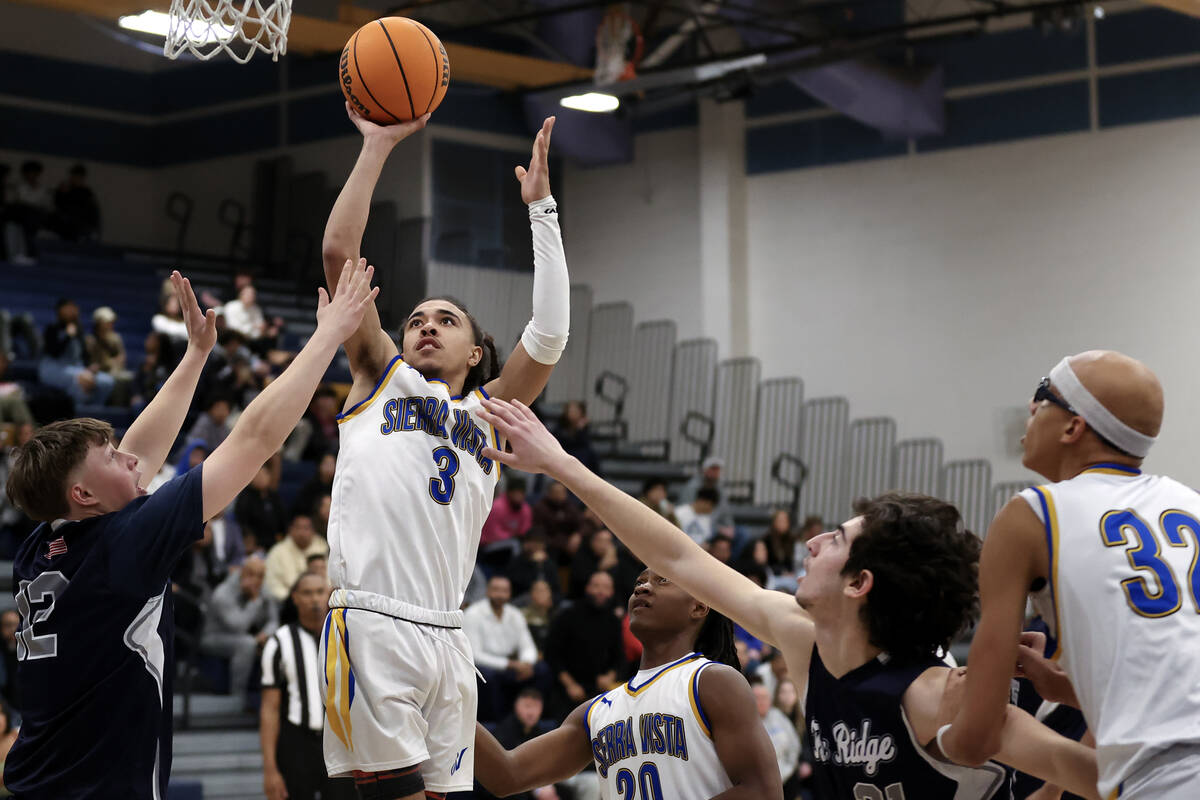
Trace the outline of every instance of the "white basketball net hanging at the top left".
{"type": "Polygon", "coordinates": [[[278,61],[288,52],[292,0],[170,0],[170,29],[163,54],[178,58],[188,50],[209,60],[228,53],[246,64],[256,50],[278,61]]]}

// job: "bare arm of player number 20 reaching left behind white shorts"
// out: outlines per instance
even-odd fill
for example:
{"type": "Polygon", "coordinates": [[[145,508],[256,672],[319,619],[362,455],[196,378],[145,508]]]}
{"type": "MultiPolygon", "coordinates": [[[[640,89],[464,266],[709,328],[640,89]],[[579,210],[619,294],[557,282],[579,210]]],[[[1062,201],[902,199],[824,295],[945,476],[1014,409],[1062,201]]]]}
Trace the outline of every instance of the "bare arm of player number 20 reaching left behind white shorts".
{"type": "Polygon", "coordinates": [[[587,710],[588,703],[580,705],[558,728],[516,750],[505,750],[476,722],[475,780],[496,796],[506,798],[578,775],[592,762],[592,742],[584,720],[587,710]]]}

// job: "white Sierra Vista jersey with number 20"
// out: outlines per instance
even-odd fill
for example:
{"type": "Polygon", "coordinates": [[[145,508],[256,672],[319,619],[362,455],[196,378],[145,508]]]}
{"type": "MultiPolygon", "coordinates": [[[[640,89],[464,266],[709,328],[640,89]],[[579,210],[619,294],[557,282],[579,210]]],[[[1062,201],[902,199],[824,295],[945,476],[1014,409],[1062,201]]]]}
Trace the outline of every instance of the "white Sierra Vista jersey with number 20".
{"type": "Polygon", "coordinates": [[[694,652],[592,700],[602,800],[707,800],[732,786],[700,704],[700,674],[712,663],[694,652]]]}

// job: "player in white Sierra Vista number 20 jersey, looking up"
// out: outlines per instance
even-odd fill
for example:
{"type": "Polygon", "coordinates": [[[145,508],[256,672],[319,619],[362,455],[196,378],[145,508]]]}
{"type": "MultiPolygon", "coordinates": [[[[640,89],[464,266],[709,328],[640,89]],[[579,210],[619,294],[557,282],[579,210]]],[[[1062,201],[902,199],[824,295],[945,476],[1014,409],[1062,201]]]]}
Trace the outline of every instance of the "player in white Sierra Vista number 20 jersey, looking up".
{"type": "Polygon", "coordinates": [[[484,788],[503,798],[595,763],[602,800],[782,800],[730,620],[650,570],[638,576],[628,610],[642,643],[637,675],[512,751],[476,724],[484,788]]]}

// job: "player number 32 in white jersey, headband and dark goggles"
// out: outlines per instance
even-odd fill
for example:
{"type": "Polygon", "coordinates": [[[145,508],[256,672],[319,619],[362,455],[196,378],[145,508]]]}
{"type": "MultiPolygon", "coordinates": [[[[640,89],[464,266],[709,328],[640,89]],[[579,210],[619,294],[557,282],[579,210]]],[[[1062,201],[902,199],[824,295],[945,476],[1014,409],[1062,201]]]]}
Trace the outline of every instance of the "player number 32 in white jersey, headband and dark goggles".
{"type": "Polygon", "coordinates": [[[1022,463],[1050,483],[1009,500],[988,533],[978,668],[940,734],[954,760],[996,750],[1020,652],[1031,678],[1056,679],[1034,680],[1043,697],[1082,710],[1102,795],[1200,796],[1200,494],[1141,471],[1162,423],[1158,378],[1121,353],[1062,359],[1038,384],[1022,463]],[[1057,639],[1057,668],[1019,650],[1026,596],[1057,639]]]}

